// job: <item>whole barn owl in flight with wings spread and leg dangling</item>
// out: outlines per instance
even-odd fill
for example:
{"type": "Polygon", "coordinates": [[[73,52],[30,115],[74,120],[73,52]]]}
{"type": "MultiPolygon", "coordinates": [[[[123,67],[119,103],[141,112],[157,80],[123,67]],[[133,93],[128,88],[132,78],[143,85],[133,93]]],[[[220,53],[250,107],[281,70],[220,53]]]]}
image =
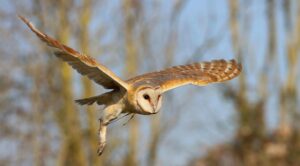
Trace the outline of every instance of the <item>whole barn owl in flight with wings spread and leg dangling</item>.
{"type": "Polygon", "coordinates": [[[80,105],[97,103],[104,105],[103,115],[99,119],[98,155],[106,144],[107,126],[121,114],[156,114],[161,108],[163,94],[179,86],[194,84],[204,86],[210,83],[224,82],[238,76],[241,64],[235,60],[213,60],[182,66],[174,66],[162,71],[146,73],[128,79],[120,79],[112,71],[97,63],[92,57],[79,53],[39,31],[26,18],[19,18],[43,42],[56,48],[54,55],[67,62],[77,72],[111,91],[104,94],[75,100],[80,105]]]}

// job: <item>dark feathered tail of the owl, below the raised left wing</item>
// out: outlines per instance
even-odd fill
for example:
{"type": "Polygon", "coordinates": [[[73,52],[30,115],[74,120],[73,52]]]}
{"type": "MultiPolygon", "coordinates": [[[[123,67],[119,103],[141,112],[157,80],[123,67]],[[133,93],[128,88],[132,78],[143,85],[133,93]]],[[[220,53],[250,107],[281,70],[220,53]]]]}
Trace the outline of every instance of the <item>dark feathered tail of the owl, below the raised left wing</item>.
{"type": "Polygon", "coordinates": [[[111,92],[108,92],[98,96],[78,99],[75,100],[75,102],[80,105],[92,105],[95,102],[97,102],[98,105],[103,105],[103,104],[107,104],[110,100],[111,100],[111,92]]]}

